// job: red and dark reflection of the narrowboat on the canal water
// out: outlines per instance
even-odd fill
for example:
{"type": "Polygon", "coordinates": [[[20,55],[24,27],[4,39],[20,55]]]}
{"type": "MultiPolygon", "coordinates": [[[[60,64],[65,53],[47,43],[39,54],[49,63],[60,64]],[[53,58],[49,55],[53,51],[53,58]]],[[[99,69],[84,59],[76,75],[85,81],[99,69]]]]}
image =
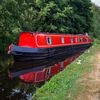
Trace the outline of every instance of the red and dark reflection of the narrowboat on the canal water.
{"type": "Polygon", "coordinates": [[[16,62],[9,69],[9,77],[20,77],[21,80],[25,82],[43,82],[50,79],[55,74],[62,71],[68,64],[74,61],[80,54],[73,55],[65,59],[64,61],[58,62],[51,66],[41,66],[41,67],[32,67],[33,62],[21,63],[16,62]],[[28,67],[27,67],[28,66],[28,67]]]}

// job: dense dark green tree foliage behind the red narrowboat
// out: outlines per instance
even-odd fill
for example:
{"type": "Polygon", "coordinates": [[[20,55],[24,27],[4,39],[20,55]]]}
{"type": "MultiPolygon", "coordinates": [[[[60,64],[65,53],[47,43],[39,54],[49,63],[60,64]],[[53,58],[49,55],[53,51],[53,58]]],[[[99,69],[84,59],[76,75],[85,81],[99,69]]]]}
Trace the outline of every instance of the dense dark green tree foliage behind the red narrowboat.
{"type": "Polygon", "coordinates": [[[90,0],[0,0],[0,53],[20,31],[89,32],[90,7],[90,0]]]}

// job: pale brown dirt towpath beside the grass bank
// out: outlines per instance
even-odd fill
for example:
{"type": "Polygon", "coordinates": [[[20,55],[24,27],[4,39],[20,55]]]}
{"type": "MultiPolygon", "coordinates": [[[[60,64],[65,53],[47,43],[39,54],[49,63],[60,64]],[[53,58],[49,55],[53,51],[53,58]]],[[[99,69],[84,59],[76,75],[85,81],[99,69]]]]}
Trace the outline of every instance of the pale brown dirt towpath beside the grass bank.
{"type": "Polygon", "coordinates": [[[100,52],[94,56],[93,69],[77,81],[80,92],[75,100],[100,100],[100,52]]]}

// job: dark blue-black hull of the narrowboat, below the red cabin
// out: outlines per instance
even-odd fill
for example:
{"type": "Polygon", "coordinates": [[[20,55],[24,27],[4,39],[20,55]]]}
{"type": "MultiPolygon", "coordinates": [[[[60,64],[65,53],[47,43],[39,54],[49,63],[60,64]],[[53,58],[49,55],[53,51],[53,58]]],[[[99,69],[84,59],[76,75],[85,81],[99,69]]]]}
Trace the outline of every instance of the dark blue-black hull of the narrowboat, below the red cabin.
{"type": "Polygon", "coordinates": [[[14,46],[11,54],[13,55],[15,61],[33,61],[34,63],[40,63],[47,59],[57,59],[61,58],[62,61],[69,56],[76,53],[81,53],[88,49],[91,44],[82,44],[75,46],[66,47],[55,47],[55,48],[25,48],[14,46]]]}

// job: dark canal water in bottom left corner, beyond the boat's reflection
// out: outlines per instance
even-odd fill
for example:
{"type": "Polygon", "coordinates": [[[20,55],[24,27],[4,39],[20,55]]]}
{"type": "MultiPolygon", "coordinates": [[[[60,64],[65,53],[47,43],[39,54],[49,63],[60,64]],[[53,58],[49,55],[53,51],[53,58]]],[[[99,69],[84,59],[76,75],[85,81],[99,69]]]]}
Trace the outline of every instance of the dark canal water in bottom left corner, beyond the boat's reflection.
{"type": "Polygon", "coordinates": [[[8,64],[0,62],[0,100],[32,100],[34,84],[26,84],[18,78],[10,79],[7,74],[8,64]]]}

